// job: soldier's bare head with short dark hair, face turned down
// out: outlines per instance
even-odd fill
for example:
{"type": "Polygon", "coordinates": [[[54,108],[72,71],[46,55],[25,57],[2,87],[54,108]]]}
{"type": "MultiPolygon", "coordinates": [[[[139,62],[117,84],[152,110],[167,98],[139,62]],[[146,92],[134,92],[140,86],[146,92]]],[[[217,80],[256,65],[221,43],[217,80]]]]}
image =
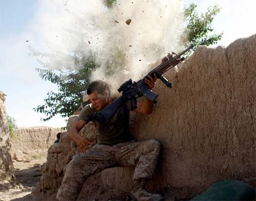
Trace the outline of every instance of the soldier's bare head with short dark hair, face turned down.
{"type": "Polygon", "coordinates": [[[89,85],[87,94],[89,95],[89,101],[98,111],[108,106],[111,102],[110,86],[99,79],[89,85]]]}

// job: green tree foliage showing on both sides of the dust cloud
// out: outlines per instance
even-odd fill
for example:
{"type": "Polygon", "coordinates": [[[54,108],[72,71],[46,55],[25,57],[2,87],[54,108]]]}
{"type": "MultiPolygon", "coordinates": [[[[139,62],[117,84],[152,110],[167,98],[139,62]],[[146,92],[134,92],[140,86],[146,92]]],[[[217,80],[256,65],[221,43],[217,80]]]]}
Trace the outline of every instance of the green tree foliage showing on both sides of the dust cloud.
{"type": "MultiPolygon", "coordinates": [[[[103,0],[104,4],[108,8],[113,9],[113,5],[116,0],[103,0]]],[[[221,38],[222,34],[211,34],[214,30],[211,27],[212,20],[220,12],[220,8],[215,5],[209,7],[206,13],[198,14],[196,11],[196,4],[190,4],[187,8],[184,8],[185,25],[182,33],[182,37],[179,41],[180,44],[188,47],[193,44],[195,47],[198,45],[212,45],[216,44],[221,38]]],[[[193,50],[190,50],[186,56],[189,56],[193,50]]],[[[34,55],[46,56],[32,50],[34,55]]],[[[39,105],[34,110],[46,114],[46,118],[41,120],[47,121],[56,114],[60,114],[61,117],[68,117],[73,115],[82,103],[82,93],[90,83],[89,78],[94,69],[97,68],[95,62],[95,55],[82,55],[80,52],[73,52],[70,54],[76,61],[76,68],[65,70],[60,69],[58,66],[55,70],[47,69],[46,63],[41,63],[45,69],[37,69],[39,76],[46,81],[50,81],[58,85],[58,92],[48,92],[48,97],[45,98],[45,104],[39,105]]],[[[49,55],[48,55],[49,56],[49,55]]],[[[50,55],[51,57],[52,55],[50,55]]],[[[54,55],[52,56],[54,57],[54,55]]],[[[108,67],[106,68],[108,71],[108,67]]],[[[120,69],[121,70],[121,69],[120,69]]],[[[112,72],[109,72],[112,73],[112,72]]]]}

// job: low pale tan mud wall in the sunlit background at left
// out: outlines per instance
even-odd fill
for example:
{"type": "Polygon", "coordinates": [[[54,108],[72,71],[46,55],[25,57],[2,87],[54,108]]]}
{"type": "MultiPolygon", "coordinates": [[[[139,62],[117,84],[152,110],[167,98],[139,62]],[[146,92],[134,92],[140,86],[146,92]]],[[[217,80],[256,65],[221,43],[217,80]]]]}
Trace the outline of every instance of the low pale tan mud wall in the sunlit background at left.
{"type": "Polygon", "coordinates": [[[61,128],[51,127],[14,129],[15,137],[11,139],[11,152],[49,149],[57,139],[57,133],[65,131],[61,128]]]}

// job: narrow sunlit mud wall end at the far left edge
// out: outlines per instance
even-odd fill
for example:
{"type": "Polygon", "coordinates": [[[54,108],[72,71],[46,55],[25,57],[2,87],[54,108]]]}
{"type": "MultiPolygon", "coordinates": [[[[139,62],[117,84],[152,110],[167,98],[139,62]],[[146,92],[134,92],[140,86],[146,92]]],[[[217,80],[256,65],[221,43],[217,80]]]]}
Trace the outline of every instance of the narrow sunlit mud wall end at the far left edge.
{"type": "Polygon", "coordinates": [[[10,136],[6,120],[5,94],[0,91],[0,190],[15,182],[14,168],[10,155],[10,136]]]}

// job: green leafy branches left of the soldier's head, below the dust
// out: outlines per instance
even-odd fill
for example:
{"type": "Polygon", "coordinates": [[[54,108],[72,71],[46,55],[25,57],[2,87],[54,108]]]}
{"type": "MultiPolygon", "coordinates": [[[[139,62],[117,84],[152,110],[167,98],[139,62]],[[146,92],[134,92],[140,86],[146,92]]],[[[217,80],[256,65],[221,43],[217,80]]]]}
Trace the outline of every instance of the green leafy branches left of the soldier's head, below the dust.
{"type": "Polygon", "coordinates": [[[44,99],[44,105],[33,108],[34,111],[47,116],[41,118],[42,121],[46,122],[57,114],[61,117],[69,117],[79,108],[83,91],[87,89],[90,75],[96,68],[93,57],[83,58],[83,62],[82,67],[73,70],[36,69],[42,79],[58,85],[57,92],[47,93],[48,97],[44,99]]]}

